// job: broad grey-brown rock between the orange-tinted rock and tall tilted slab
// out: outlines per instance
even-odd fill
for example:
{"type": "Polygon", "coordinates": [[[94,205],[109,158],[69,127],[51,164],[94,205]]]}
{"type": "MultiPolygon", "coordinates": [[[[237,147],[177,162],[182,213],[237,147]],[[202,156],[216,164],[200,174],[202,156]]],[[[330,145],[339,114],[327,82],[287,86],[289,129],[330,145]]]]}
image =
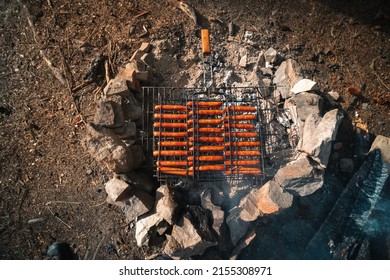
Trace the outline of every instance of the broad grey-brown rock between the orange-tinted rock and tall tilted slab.
{"type": "Polygon", "coordinates": [[[303,156],[280,168],[274,180],[294,195],[306,196],[322,187],[324,171],[316,162],[303,156]]]}

